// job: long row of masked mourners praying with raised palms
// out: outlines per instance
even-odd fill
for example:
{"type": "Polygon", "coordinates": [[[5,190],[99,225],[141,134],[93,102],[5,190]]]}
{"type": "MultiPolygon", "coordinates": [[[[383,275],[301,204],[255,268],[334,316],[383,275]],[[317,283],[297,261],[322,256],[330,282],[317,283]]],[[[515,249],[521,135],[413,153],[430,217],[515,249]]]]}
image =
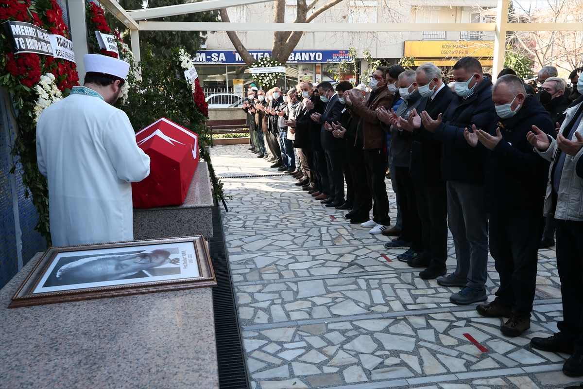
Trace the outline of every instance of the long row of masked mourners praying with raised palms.
{"type": "Polygon", "coordinates": [[[369,87],[303,82],[282,93],[251,85],[243,106],[250,150],[316,201],[346,210],[350,223],[393,236],[385,247],[406,248],[397,258],[423,268],[420,278],[461,288],[452,303],[484,302],[480,314],[508,318],[500,330],[511,337],[530,328],[538,250],[556,239],[563,320],[557,334],[531,345],[572,354],[563,371],[583,376],[581,71],[571,73],[570,87],[553,66],[534,86],[512,69],[493,83],[465,57],[451,82],[425,63],[415,71],[379,66],[369,87]],[[486,304],[489,251],[500,287],[486,304]]]}

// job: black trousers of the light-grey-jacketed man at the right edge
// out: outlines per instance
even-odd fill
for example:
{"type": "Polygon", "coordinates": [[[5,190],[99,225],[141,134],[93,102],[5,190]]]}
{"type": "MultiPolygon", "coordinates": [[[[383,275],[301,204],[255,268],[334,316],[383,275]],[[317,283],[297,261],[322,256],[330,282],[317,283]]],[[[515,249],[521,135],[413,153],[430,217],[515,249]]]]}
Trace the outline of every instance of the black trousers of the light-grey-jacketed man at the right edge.
{"type": "Polygon", "coordinates": [[[561,279],[563,320],[561,339],[573,339],[575,352],[583,353],[583,222],[557,219],[557,270],[561,279]]]}

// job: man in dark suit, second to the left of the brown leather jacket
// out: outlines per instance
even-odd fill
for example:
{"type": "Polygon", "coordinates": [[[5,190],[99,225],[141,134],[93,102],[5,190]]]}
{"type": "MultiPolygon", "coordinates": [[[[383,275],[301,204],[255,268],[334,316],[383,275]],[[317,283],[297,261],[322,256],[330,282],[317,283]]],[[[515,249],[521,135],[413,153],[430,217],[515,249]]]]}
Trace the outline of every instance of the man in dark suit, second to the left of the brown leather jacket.
{"type": "Polygon", "coordinates": [[[340,120],[344,104],[340,103],[338,96],[334,94],[331,83],[321,82],[317,89],[319,98],[324,103],[324,111],[321,114],[313,113],[311,118],[321,124],[320,144],[324,150],[327,171],[320,173],[328,174],[331,187],[330,197],[322,203],[329,207],[336,207],[344,204],[344,176],[342,174],[344,144],[342,139],[335,138],[332,131],[324,127],[324,123],[332,124],[340,120]]]}

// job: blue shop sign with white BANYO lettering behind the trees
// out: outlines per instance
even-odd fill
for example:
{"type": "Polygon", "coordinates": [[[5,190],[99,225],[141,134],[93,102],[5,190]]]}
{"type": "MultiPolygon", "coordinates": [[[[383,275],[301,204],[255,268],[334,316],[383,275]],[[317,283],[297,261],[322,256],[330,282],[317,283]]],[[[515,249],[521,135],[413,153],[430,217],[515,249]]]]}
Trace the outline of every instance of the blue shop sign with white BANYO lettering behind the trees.
{"type": "MultiPolygon", "coordinates": [[[[250,50],[255,59],[271,56],[271,50],[250,50]]],[[[287,58],[288,64],[317,64],[321,62],[341,62],[342,59],[352,61],[348,50],[294,50],[287,58]]],[[[245,62],[236,50],[203,50],[197,51],[193,58],[195,65],[205,64],[241,64],[245,62]]]]}

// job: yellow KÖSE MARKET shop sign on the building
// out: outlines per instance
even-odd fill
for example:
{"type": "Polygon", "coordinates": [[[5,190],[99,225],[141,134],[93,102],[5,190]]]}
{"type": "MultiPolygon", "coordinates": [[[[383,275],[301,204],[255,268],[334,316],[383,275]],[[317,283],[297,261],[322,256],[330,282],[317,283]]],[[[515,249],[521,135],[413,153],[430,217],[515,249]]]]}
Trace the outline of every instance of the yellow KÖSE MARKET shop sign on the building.
{"type": "Polygon", "coordinates": [[[405,57],[461,58],[494,56],[493,41],[405,41],[405,57]]]}

